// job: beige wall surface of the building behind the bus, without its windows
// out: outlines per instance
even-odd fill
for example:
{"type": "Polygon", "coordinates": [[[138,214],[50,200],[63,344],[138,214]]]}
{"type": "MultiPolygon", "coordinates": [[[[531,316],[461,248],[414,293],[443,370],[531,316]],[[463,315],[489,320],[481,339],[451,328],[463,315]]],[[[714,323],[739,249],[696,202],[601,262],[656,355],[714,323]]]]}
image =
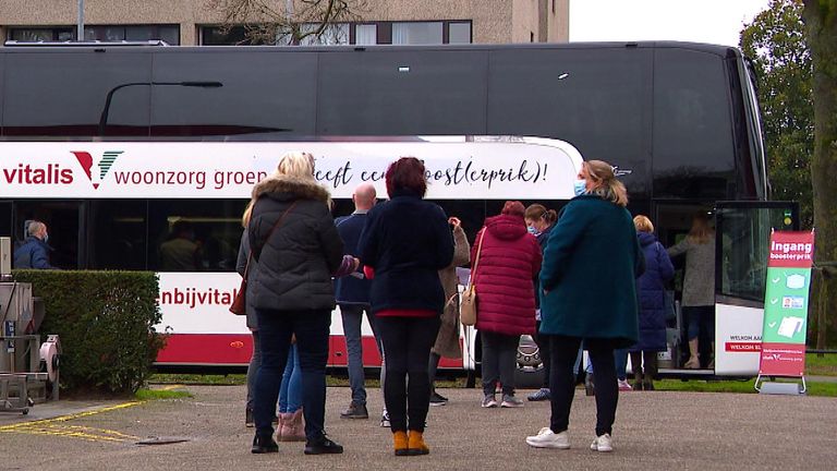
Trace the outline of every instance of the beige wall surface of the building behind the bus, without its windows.
{"type": "MultiPolygon", "coordinates": [[[[367,21],[471,20],[473,41],[529,43],[538,39],[538,4],[553,0],[362,0],[367,21]]],[[[549,40],[567,40],[569,0],[556,0],[560,19],[547,17],[549,40]],[[563,13],[561,13],[561,11],[563,13]],[[551,31],[556,24],[559,31],[551,31]],[[562,29],[561,29],[562,28],[562,29]]],[[[276,0],[277,11],[284,0],[276,0]]],[[[85,24],[179,24],[182,45],[197,44],[201,25],[218,24],[221,15],[208,0],[85,0],[85,24]]],[[[70,26],[76,24],[76,0],[0,0],[0,32],[8,26],[70,26]]],[[[551,10],[548,10],[551,15],[551,10]]],[[[5,36],[3,36],[5,37],[5,36]]]]}

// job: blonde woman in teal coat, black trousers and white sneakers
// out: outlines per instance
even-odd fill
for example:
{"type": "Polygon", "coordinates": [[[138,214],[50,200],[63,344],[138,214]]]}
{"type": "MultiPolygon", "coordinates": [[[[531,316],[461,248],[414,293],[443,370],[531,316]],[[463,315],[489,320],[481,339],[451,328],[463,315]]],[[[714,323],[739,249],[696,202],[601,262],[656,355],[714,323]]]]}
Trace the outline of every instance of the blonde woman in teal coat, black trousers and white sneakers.
{"type": "Polygon", "coordinates": [[[619,390],[614,349],[638,337],[635,278],[644,270],[628,194],[601,160],[582,165],[575,194],[549,234],[541,269],[541,334],[550,336],[551,420],[526,443],[569,448],[574,392],[572,366],[584,340],[596,369],[596,438],[591,449],[611,451],[619,390]]]}

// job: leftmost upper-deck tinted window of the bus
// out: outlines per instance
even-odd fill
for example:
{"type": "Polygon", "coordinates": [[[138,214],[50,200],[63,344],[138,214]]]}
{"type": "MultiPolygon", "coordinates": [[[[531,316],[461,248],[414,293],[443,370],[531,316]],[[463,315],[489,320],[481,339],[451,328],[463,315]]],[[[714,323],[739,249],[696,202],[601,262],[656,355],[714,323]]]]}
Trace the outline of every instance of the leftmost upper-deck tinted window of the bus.
{"type": "Polygon", "coordinates": [[[86,49],[4,56],[4,135],[98,135],[109,92],[105,135],[148,135],[148,55],[86,49]]]}

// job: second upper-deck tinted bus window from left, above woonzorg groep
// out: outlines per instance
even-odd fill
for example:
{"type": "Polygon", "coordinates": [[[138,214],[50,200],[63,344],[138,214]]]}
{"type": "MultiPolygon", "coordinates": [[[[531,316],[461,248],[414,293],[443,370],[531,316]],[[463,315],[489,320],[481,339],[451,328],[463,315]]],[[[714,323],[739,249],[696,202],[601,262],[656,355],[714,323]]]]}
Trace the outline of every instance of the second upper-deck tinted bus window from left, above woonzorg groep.
{"type": "Polygon", "coordinates": [[[314,52],[161,52],[154,61],[155,82],[222,86],[153,87],[151,135],[314,135],[314,52]]]}

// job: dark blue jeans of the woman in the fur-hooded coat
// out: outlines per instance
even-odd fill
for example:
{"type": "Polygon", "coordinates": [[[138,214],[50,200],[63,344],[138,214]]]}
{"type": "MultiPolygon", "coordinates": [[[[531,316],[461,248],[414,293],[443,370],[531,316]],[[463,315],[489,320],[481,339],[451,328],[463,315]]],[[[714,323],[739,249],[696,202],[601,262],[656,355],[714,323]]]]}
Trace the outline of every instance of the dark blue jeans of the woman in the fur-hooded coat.
{"type": "Polygon", "coordinates": [[[274,433],[276,402],[291,348],[291,336],[295,334],[302,371],[305,437],[310,442],[320,440],[325,435],[326,363],[331,311],[256,310],[256,316],[262,347],[262,367],[256,376],[253,410],[256,435],[269,437],[274,433]]]}

